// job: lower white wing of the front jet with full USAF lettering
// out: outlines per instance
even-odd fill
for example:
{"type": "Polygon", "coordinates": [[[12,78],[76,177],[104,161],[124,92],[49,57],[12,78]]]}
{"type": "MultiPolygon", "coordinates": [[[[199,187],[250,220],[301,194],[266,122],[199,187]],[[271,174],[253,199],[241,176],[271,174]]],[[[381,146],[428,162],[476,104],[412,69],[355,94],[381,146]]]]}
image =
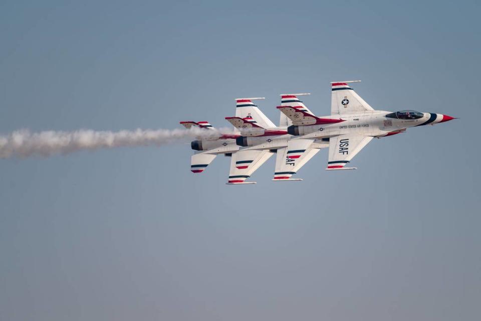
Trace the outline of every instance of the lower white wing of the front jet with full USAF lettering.
{"type": "Polygon", "coordinates": [[[372,136],[359,134],[343,134],[329,139],[329,161],[326,170],[355,170],[356,168],[346,168],[352,157],[366,146],[372,136]]]}

